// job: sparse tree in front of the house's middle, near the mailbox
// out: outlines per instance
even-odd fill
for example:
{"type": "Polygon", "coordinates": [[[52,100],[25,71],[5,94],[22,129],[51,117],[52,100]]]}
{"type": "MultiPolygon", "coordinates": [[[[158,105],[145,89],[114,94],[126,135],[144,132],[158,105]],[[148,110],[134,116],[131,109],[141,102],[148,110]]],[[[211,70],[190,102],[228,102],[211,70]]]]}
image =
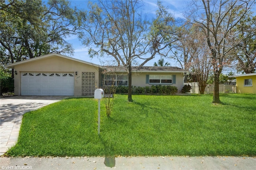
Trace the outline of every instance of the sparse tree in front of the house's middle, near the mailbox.
{"type": "Polygon", "coordinates": [[[173,18],[162,4],[158,3],[157,18],[151,27],[140,13],[142,6],[141,0],[100,0],[89,3],[89,12],[82,15],[84,34],[80,38],[84,45],[90,45],[90,57],[108,55],[127,69],[128,101],[132,101],[135,60],[144,60],[142,66],[156,54],[166,55],[168,51],[164,49],[176,40],[172,34],[173,18]]]}

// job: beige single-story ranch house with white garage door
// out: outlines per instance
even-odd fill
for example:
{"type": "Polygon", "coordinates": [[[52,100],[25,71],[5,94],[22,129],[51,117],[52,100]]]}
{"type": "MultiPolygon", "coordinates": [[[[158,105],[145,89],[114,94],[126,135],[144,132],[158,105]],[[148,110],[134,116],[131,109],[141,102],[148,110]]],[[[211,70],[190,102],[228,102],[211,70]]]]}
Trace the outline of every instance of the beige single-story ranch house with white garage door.
{"type": "MultiPolygon", "coordinates": [[[[104,67],[57,53],[5,67],[14,69],[14,95],[91,96],[109,81],[128,85],[124,67],[104,67]]],[[[178,67],[132,67],[132,85],[173,85],[180,91],[184,72],[178,67]]]]}

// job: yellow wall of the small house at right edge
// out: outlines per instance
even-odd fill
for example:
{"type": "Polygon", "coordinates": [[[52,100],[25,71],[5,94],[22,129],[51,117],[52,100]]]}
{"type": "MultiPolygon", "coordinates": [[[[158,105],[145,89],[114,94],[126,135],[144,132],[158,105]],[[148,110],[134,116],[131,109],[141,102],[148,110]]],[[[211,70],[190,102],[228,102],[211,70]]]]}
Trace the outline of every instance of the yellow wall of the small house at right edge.
{"type": "Polygon", "coordinates": [[[256,75],[236,77],[236,93],[256,94],[256,75]],[[244,86],[244,79],[252,79],[252,86],[244,86]]]}

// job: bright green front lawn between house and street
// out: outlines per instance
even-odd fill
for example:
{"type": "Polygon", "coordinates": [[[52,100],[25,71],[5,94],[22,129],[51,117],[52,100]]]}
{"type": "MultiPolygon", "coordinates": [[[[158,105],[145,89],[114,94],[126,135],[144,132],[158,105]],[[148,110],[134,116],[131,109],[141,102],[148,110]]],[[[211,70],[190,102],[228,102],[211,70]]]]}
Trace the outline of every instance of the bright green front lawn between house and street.
{"type": "Polygon", "coordinates": [[[8,156],[255,156],[256,95],[116,95],[111,118],[98,100],[65,99],[26,113],[8,156]]]}

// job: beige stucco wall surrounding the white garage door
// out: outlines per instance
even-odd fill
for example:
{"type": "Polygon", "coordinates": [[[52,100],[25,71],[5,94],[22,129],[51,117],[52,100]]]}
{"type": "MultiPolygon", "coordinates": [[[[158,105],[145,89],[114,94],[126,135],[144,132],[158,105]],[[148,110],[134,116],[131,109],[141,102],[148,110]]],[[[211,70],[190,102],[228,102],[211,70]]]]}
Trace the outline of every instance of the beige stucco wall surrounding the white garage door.
{"type": "MultiPolygon", "coordinates": [[[[66,59],[59,56],[47,57],[15,66],[17,75],[14,75],[14,95],[21,95],[22,72],[55,72],[74,73],[74,95],[82,95],[82,72],[95,72],[95,87],[98,87],[98,67],[66,59]],[[77,75],[75,72],[77,71],[77,75]]],[[[96,88],[95,88],[96,89],[96,88]]]]}

